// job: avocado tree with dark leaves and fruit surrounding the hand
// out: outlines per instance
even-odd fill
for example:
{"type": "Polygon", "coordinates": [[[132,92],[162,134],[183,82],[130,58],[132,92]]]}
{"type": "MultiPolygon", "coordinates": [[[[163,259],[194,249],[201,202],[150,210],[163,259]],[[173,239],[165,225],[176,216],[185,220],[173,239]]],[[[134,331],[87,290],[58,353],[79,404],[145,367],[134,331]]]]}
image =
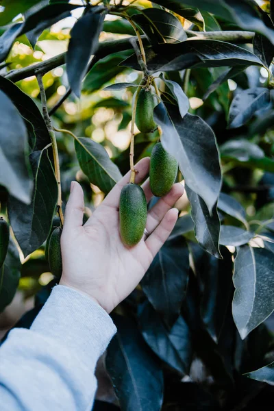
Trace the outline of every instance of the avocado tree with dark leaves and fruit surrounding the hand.
{"type": "Polygon", "coordinates": [[[17,289],[35,296],[18,323],[29,327],[58,282],[71,180],[88,218],[157,151],[154,194],[176,179],[186,195],[112,313],[117,404],[262,407],[274,384],[274,1],[0,3],[0,311],[17,289]]]}

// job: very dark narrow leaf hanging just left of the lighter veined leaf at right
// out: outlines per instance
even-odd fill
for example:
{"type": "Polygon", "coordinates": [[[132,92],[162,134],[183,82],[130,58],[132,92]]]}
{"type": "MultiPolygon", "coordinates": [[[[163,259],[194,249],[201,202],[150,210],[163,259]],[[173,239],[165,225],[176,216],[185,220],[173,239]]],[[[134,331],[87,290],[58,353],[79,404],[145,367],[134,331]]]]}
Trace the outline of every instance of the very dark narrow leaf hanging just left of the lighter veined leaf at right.
{"type": "Polygon", "coordinates": [[[205,252],[201,253],[197,247],[192,246],[190,249],[201,293],[201,319],[217,343],[231,301],[232,255],[226,247],[221,247],[223,260],[217,260],[205,252]]]}

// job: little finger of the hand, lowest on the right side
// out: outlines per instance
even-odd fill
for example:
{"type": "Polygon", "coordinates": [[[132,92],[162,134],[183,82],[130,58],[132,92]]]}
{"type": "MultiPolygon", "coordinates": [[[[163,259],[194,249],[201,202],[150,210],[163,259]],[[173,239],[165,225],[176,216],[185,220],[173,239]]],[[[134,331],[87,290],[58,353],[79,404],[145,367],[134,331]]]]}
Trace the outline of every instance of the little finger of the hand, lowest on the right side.
{"type": "Polygon", "coordinates": [[[166,213],[158,227],[147,238],[145,244],[147,245],[147,248],[151,252],[153,258],[158,253],[167,238],[169,238],[169,234],[171,234],[177,218],[177,208],[171,208],[171,210],[166,213]]]}

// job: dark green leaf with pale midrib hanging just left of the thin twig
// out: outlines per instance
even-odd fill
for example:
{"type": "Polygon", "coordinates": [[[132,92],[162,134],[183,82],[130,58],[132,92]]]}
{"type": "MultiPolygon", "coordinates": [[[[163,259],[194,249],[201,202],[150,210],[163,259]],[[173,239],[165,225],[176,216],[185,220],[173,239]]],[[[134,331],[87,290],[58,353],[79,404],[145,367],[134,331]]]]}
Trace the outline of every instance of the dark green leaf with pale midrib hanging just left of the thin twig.
{"type": "Polygon", "coordinates": [[[26,206],[12,196],[8,201],[10,224],[25,257],[47,240],[58,199],[58,186],[47,149],[34,151],[29,157],[34,175],[32,203],[26,206]]]}

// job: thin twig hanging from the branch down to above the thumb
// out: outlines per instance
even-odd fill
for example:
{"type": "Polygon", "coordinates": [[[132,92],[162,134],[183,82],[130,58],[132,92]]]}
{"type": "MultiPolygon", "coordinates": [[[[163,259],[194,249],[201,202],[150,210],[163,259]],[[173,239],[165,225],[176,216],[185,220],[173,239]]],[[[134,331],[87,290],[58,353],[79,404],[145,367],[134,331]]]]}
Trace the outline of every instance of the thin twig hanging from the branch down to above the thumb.
{"type": "Polygon", "coordinates": [[[62,212],[62,190],[61,190],[61,176],[60,176],[60,163],[59,163],[59,156],[58,156],[58,147],[56,142],[55,133],[53,131],[53,126],[51,124],[51,119],[49,117],[49,112],[47,111],[47,97],[44,88],[44,84],[42,83],[42,73],[37,73],[36,78],[38,81],[38,85],[40,88],[40,96],[41,96],[41,103],[42,103],[42,114],[44,116],[45,124],[49,131],[49,136],[51,137],[52,142],[52,150],[53,150],[53,161],[54,161],[54,171],[55,177],[58,184],[58,214],[60,216],[61,225],[64,224],[64,216],[62,212]]]}

